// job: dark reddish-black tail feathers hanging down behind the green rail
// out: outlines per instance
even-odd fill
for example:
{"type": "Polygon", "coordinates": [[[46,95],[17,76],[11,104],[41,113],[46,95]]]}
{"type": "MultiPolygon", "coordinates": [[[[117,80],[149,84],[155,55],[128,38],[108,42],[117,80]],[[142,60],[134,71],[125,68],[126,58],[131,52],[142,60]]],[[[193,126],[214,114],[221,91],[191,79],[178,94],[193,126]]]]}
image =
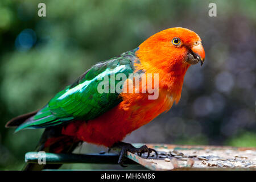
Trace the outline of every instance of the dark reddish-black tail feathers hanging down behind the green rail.
{"type": "MultiPolygon", "coordinates": [[[[73,137],[61,135],[61,127],[50,127],[44,130],[36,151],[71,154],[80,142],[73,137]]],[[[40,171],[43,169],[58,169],[62,164],[27,163],[23,171],[40,171]]]]}

